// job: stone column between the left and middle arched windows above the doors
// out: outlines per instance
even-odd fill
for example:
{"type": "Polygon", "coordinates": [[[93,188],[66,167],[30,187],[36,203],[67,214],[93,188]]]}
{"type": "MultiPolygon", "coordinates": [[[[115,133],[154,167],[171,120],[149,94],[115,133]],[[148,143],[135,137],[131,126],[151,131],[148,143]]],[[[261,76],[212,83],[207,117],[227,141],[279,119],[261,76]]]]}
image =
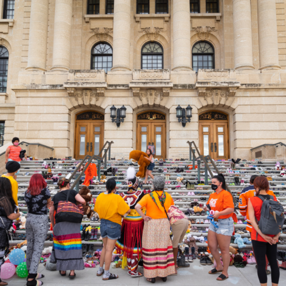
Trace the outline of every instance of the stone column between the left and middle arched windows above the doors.
{"type": "Polygon", "coordinates": [[[111,70],[130,69],[131,0],[114,0],[113,66],[111,70]]]}

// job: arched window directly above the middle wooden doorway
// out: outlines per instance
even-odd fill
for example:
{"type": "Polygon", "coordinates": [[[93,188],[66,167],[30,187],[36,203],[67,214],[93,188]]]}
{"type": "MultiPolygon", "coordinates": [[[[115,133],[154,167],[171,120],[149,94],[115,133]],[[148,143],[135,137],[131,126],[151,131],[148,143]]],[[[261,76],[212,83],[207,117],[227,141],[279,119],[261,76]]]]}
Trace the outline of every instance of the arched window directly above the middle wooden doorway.
{"type": "Polygon", "coordinates": [[[141,68],[142,69],[163,68],[163,48],[160,44],[149,42],[142,47],[141,68]]]}

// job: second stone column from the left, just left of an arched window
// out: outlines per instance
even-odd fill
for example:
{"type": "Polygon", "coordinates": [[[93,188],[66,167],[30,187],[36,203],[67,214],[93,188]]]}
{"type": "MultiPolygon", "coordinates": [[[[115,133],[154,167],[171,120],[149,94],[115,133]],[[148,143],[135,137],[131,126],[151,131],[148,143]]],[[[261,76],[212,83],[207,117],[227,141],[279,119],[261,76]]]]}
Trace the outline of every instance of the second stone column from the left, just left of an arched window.
{"type": "Polygon", "coordinates": [[[71,23],[73,0],[56,0],[53,67],[56,70],[70,68],[71,23]]]}

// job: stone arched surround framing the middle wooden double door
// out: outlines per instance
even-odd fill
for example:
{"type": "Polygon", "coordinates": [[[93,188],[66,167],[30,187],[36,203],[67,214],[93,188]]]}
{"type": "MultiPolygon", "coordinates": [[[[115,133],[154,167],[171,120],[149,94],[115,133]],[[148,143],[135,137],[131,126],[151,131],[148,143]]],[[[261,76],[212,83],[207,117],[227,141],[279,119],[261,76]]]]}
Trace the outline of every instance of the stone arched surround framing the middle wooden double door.
{"type": "MultiPolygon", "coordinates": [[[[144,111],[154,110],[163,113],[166,117],[166,158],[169,156],[169,149],[170,149],[170,112],[168,108],[159,108],[159,107],[142,107],[142,108],[135,108],[133,109],[133,150],[136,150],[136,132],[137,132],[137,115],[144,111]]],[[[164,158],[165,159],[165,158],[164,158]]]]}

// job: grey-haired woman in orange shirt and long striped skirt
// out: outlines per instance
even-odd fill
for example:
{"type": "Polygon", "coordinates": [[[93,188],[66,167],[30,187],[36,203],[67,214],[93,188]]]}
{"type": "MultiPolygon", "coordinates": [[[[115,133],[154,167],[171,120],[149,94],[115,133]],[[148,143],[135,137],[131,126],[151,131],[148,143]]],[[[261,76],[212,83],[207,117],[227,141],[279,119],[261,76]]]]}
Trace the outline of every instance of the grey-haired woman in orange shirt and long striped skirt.
{"type": "Polygon", "coordinates": [[[135,209],[144,219],[142,234],[142,258],[144,276],[155,283],[155,277],[165,282],[168,275],[175,274],[172,241],[170,239],[170,222],[166,212],[174,201],[170,194],[164,192],[165,180],[155,177],[154,191],[145,195],[135,209]],[[142,207],[146,207],[146,215],[142,207]]]}

